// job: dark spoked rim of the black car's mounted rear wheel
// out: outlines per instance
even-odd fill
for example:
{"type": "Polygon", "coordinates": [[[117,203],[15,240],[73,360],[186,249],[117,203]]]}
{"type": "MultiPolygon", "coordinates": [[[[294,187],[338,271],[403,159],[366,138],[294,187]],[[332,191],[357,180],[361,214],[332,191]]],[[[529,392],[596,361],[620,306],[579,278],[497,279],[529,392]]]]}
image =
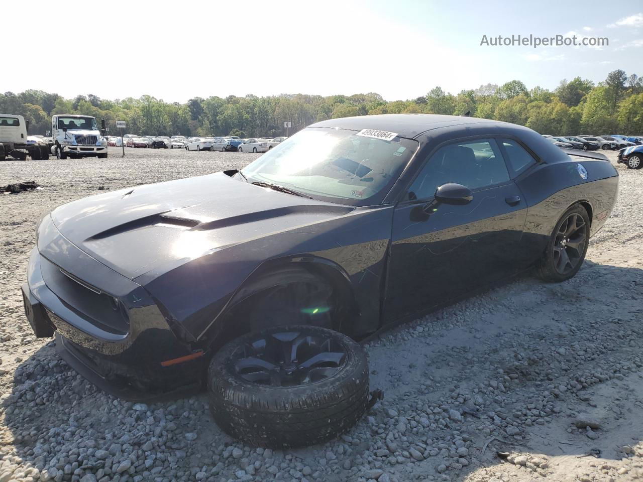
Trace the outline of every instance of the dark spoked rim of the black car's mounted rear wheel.
{"type": "Polygon", "coordinates": [[[554,239],[554,267],[559,274],[576,269],[583,259],[587,226],[583,216],[572,213],[563,220],[554,239]]]}

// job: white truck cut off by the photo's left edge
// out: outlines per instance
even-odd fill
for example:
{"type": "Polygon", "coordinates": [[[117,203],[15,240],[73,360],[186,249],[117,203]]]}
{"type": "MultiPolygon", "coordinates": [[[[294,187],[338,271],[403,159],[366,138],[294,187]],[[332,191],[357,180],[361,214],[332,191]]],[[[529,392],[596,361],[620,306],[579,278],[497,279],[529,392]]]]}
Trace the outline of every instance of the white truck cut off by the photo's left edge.
{"type": "Polygon", "coordinates": [[[0,161],[7,156],[24,161],[27,156],[33,160],[49,159],[49,146],[46,142],[28,136],[29,121],[23,116],[0,114],[0,161]]]}

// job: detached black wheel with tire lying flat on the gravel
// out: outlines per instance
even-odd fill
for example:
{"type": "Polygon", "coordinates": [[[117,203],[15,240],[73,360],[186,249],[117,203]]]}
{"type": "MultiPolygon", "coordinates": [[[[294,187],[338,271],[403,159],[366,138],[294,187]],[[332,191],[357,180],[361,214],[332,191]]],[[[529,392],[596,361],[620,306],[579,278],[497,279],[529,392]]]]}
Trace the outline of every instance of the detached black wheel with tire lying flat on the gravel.
{"type": "Polygon", "coordinates": [[[365,413],[367,356],[327,328],[267,328],[214,355],[208,395],[215,422],[244,443],[314,445],[344,433],[365,413]]]}

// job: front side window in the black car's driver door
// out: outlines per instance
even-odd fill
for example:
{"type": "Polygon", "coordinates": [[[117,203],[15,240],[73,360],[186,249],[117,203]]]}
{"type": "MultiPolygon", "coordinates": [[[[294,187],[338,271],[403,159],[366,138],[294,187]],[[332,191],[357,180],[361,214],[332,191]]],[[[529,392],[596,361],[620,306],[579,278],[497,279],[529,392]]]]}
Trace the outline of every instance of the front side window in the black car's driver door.
{"type": "Polygon", "coordinates": [[[409,189],[408,199],[426,199],[446,183],[473,190],[509,181],[507,166],[494,139],[465,141],[440,147],[409,189]]]}

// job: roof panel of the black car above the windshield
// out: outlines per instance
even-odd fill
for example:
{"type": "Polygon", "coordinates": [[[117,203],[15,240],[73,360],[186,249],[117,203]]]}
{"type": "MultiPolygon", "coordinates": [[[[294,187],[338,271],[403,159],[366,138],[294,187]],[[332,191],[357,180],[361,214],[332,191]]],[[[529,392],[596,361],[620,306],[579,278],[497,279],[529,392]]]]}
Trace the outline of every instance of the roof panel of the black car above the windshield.
{"type": "Polygon", "coordinates": [[[403,138],[413,139],[427,130],[452,127],[455,125],[496,123],[500,121],[464,116],[443,116],[439,114],[377,114],[374,116],[345,117],[316,122],[309,127],[339,127],[340,129],[376,129],[397,132],[403,138]]]}

